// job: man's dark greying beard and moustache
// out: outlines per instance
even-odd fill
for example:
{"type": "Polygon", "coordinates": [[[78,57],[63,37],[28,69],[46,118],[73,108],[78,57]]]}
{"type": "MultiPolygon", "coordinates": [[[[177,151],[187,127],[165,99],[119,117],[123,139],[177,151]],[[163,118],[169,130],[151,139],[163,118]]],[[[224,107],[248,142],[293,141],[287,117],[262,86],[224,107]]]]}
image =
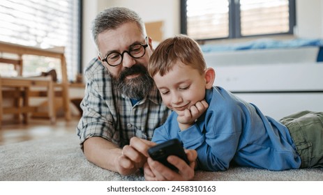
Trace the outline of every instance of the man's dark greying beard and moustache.
{"type": "Polygon", "coordinates": [[[114,81],[114,84],[117,84],[117,88],[123,95],[135,100],[145,98],[153,87],[153,79],[149,76],[147,68],[138,64],[122,70],[119,77],[112,76],[112,81],[114,81]],[[138,73],[140,75],[133,79],[126,78],[129,75],[138,73]]]}

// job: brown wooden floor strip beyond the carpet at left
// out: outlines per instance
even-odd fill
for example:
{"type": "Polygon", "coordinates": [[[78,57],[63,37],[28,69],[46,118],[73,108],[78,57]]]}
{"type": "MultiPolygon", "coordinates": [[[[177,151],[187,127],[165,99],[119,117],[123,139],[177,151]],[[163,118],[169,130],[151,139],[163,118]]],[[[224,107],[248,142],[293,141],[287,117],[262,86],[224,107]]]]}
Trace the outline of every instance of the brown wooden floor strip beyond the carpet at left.
{"type": "MultiPolygon", "coordinates": [[[[50,125],[47,120],[29,120],[28,125],[23,124],[5,124],[0,129],[0,146],[20,141],[29,141],[33,139],[42,139],[53,135],[75,133],[79,118],[73,118],[66,121],[58,118],[57,123],[50,125]]],[[[75,134],[76,136],[76,134],[75,134]]]]}

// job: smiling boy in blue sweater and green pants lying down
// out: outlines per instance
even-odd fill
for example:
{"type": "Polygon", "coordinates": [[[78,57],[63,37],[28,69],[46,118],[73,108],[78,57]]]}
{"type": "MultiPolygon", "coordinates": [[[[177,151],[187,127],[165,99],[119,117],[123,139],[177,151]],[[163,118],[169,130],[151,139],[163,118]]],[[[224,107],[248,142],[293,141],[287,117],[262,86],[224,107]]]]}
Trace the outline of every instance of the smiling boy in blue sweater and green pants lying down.
{"type": "Polygon", "coordinates": [[[303,111],[277,121],[220,86],[206,68],[199,45],[169,38],[149,60],[149,75],[172,109],[152,141],[177,138],[197,151],[197,169],[239,166],[280,171],[323,167],[323,113],[303,111]]]}

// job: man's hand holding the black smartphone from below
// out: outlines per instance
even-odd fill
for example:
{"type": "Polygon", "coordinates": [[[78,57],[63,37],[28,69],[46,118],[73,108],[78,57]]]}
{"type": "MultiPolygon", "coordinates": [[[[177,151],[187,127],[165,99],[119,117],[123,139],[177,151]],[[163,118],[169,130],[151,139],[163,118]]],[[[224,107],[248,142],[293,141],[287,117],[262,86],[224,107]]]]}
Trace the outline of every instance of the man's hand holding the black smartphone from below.
{"type": "Polygon", "coordinates": [[[196,150],[185,150],[190,165],[186,164],[183,159],[174,155],[167,157],[170,164],[176,166],[179,172],[172,171],[158,161],[154,161],[151,157],[148,158],[147,163],[144,164],[144,178],[146,180],[160,181],[160,180],[192,180],[194,178],[195,160],[197,159],[196,150]]]}

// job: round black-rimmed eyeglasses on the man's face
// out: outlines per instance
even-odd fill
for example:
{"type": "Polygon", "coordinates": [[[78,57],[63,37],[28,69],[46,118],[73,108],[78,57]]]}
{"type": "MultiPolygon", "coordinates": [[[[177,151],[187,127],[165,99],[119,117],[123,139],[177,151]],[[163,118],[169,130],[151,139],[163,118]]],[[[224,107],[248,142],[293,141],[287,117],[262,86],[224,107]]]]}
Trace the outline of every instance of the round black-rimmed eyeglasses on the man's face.
{"type": "MultiPolygon", "coordinates": [[[[147,43],[147,37],[145,38],[147,43]]],[[[140,59],[146,53],[146,47],[148,47],[148,43],[146,45],[142,45],[141,43],[132,45],[130,49],[127,51],[123,51],[121,54],[119,52],[112,52],[107,54],[102,61],[106,61],[107,64],[111,66],[117,66],[121,64],[123,61],[123,54],[127,53],[129,56],[133,57],[134,59],[140,59]]],[[[100,54],[99,54],[100,55],[100,54]]]]}

